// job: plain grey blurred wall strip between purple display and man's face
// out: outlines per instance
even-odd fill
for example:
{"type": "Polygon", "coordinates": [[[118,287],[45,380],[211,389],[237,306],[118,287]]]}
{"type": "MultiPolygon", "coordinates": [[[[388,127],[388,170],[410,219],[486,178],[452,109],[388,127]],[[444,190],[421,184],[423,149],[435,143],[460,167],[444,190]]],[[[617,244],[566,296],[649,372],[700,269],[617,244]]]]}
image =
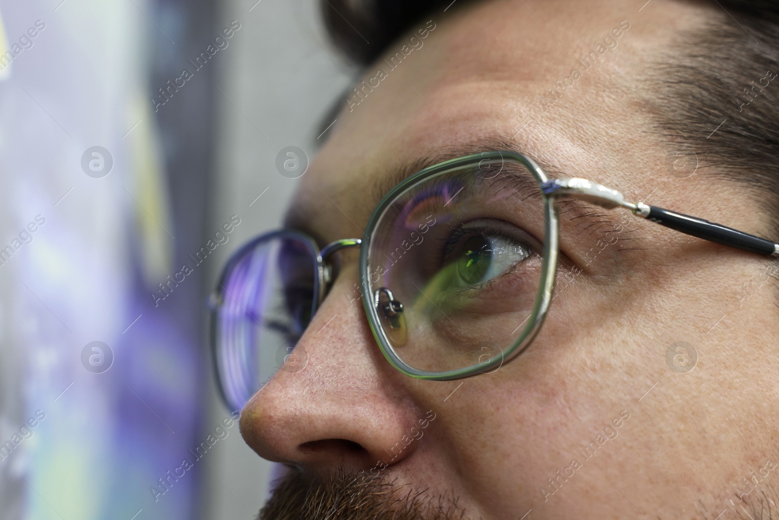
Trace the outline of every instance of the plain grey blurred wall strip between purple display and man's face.
{"type": "MultiPolygon", "coordinates": [[[[210,282],[242,242],[280,225],[299,181],[280,175],[277,154],[295,146],[313,158],[319,120],[354,74],[327,43],[314,0],[255,2],[224,0],[217,23],[220,30],[238,20],[241,29],[217,64],[210,228],[232,214],[241,225],[217,249],[210,282]]],[[[212,395],[216,425],[228,414],[212,395]]],[[[253,518],[267,498],[271,464],[244,444],[237,427],[217,447],[203,484],[202,518],[253,518]]]]}

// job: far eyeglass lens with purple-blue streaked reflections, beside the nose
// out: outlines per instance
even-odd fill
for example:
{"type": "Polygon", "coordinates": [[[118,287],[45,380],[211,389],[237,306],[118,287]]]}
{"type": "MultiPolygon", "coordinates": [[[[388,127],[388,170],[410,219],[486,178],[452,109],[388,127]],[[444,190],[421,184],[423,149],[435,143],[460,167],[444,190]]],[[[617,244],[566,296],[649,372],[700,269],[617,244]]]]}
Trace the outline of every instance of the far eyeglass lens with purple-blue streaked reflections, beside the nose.
{"type": "Polygon", "coordinates": [[[312,317],[317,283],[314,246],[292,232],[258,239],[227,264],[218,288],[214,348],[232,408],[241,409],[285,360],[304,359],[294,356],[312,317]]]}

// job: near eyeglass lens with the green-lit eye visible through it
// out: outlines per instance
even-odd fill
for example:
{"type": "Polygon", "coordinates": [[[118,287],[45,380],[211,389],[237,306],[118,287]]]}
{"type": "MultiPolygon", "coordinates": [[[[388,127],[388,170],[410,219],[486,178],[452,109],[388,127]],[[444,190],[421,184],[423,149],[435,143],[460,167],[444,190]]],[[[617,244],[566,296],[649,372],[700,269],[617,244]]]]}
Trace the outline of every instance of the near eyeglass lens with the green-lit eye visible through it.
{"type": "Polygon", "coordinates": [[[497,370],[531,325],[544,233],[540,186],[519,162],[481,159],[407,186],[368,250],[379,334],[415,370],[497,370]]]}

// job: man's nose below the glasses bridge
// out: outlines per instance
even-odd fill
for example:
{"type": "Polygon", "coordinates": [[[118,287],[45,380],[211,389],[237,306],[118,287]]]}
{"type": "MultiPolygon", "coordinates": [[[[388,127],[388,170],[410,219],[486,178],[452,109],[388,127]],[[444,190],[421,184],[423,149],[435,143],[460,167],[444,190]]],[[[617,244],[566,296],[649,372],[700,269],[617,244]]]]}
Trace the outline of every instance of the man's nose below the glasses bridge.
{"type": "Polygon", "coordinates": [[[261,457],[368,469],[397,464],[417,446],[405,440],[424,414],[379,352],[357,279],[356,267],[344,267],[295,347],[305,367],[279,370],[241,412],[241,435],[261,457]]]}

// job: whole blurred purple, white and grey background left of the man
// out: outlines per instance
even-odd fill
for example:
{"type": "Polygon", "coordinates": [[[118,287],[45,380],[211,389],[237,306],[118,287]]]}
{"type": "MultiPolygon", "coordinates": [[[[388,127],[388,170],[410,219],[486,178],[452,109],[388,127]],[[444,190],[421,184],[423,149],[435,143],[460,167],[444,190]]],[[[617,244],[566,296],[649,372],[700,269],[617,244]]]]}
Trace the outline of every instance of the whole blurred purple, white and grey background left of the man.
{"type": "Polygon", "coordinates": [[[254,518],[206,296],[354,73],[314,0],[0,0],[0,518],[254,518]]]}

